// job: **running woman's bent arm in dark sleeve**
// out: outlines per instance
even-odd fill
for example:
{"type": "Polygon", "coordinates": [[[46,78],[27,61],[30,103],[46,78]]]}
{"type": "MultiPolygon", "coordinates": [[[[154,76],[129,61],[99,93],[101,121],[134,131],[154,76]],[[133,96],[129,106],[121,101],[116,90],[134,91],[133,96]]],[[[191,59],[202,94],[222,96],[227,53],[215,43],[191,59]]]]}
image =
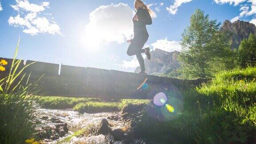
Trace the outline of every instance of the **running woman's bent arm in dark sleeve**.
{"type": "Polygon", "coordinates": [[[151,16],[146,9],[139,8],[136,15],[138,16],[138,22],[143,24],[152,24],[151,16]]]}

